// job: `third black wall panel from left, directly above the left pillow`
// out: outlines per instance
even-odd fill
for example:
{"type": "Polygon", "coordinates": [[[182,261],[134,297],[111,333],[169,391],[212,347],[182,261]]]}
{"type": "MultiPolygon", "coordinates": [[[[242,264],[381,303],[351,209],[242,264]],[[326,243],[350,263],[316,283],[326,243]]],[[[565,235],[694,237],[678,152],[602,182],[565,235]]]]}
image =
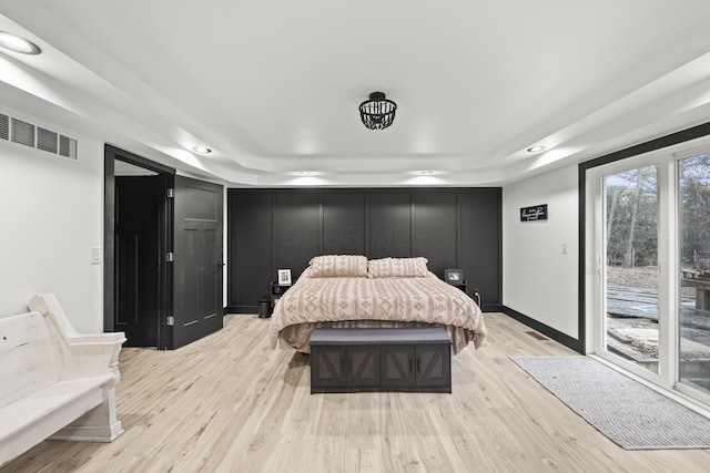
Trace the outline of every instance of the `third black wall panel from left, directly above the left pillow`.
{"type": "Polygon", "coordinates": [[[365,253],[365,193],[324,193],[323,254],[365,253]]]}

